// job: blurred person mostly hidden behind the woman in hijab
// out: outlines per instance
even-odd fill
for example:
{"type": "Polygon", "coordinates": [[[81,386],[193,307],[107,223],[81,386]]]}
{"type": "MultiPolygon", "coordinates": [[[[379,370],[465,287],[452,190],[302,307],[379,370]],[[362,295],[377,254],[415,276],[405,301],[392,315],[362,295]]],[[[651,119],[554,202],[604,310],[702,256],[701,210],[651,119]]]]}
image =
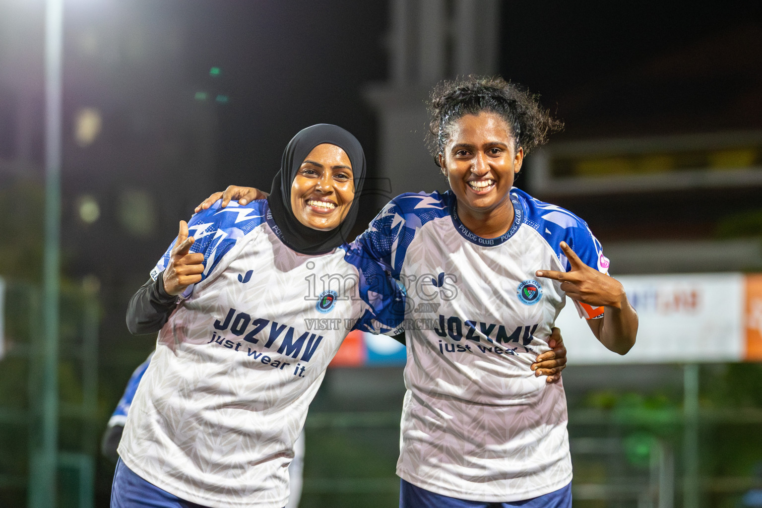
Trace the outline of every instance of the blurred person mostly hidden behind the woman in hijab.
{"type": "MultiPolygon", "coordinates": [[[[149,363],[151,363],[152,356],[153,351],[146,358],[146,361],[135,369],[133,375],[130,375],[130,380],[127,381],[122,398],[119,399],[117,408],[108,420],[101,442],[101,453],[114,464],[119,460],[117,447],[122,438],[124,424],[127,421],[127,413],[130,411],[130,405],[133,403],[133,398],[135,398],[135,391],[138,389],[142,375],[148,369],[149,363]]],[[[289,496],[286,508],[298,508],[299,499],[302,497],[305,439],[304,430],[302,430],[302,433],[299,434],[299,439],[296,439],[296,443],[293,445],[293,458],[288,466],[289,496]]]]}

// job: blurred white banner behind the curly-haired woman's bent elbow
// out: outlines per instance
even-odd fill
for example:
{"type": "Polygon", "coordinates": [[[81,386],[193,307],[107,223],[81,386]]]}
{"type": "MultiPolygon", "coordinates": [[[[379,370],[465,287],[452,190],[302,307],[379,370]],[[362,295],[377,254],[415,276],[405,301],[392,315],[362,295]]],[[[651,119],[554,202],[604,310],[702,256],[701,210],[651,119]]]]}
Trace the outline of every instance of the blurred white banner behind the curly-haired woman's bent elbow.
{"type": "Polygon", "coordinates": [[[569,365],[738,362],[746,357],[741,273],[617,277],[639,317],[636,344],[624,356],[606,349],[574,305],[555,321],[569,365]]]}

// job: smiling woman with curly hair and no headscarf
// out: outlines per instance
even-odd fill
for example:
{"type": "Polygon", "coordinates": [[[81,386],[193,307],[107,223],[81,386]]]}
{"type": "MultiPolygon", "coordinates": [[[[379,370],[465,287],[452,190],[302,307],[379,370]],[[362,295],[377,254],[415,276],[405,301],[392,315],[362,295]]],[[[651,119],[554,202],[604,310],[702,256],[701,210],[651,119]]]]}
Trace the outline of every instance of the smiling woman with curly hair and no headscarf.
{"type": "Polygon", "coordinates": [[[357,239],[408,300],[440,303],[436,315],[406,307],[406,323],[434,325],[405,327],[400,506],[571,506],[563,385],[533,362],[566,296],[620,354],[636,312],[588,225],[513,187],[524,156],[561,127],[535,97],[471,76],[437,86],[430,109],[450,190],[395,197],[357,239]]]}

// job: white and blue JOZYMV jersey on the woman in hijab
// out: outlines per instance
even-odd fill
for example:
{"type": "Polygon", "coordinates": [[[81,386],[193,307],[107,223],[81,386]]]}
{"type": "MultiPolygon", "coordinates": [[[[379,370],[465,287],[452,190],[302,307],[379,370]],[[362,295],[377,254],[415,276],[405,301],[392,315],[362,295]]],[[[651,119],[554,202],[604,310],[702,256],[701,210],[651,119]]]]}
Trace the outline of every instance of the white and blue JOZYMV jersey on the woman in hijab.
{"type": "Polygon", "coordinates": [[[351,330],[398,327],[402,289],[360,248],[292,251],[264,200],[224,209],[218,201],[188,230],[205,270],[158,334],[120,457],[193,503],[281,508],[293,445],[328,363],[351,330]]]}

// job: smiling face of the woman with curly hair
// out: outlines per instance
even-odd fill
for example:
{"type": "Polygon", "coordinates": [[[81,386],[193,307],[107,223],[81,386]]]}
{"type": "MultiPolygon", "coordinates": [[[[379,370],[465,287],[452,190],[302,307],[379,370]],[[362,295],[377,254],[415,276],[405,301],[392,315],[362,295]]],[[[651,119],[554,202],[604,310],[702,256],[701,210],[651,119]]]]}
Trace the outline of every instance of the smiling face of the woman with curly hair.
{"type": "Polygon", "coordinates": [[[503,213],[511,221],[510,192],[523,161],[523,149],[515,145],[511,128],[496,113],[467,114],[450,127],[439,161],[464,223],[467,216],[480,220],[503,213]]]}

